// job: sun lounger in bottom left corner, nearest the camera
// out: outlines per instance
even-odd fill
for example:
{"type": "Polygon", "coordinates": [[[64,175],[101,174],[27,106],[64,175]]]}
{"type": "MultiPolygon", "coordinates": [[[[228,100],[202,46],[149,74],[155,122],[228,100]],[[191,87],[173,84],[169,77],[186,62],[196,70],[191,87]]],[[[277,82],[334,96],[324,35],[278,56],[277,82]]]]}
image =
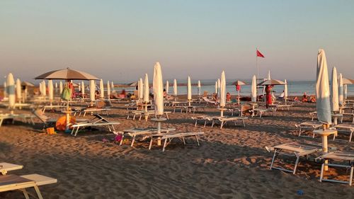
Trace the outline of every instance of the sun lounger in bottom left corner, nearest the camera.
{"type": "Polygon", "coordinates": [[[44,186],[51,183],[57,183],[57,179],[42,176],[39,174],[30,174],[24,176],[6,175],[0,176],[0,192],[4,191],[22,191],[26,199],[29,198],[29,193],[26,188],[34,188],[39,199],[42,199],[42,194],[38,186],[44,186]]]}

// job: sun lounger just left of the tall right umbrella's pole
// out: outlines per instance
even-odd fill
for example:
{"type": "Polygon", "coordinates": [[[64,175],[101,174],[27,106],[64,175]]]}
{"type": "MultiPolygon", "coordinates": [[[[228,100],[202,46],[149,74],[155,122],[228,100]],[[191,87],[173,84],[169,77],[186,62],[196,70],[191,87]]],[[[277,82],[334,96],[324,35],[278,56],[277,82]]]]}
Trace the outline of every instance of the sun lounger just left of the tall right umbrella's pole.
{"type": "Polygon", "coordinates": [[[270,164],[270,169],[278,169],[281,171],[287,171],[292,174],[295,174],[297,165],[299,164],[300,157],[307,157],[309,154],[320,152],[322,150],[322,147],[321,145],[309,144],[305,142],[290,142],[286,144],[276,145],[270,148],[265,147],[265,149],[267,149],[268,152],[274,151],[272,163],[270,164]],[[289,170],[289,169],[284,169],[282,167],[275,167],[274,161],[278,157],[278,154],[282,154],[290,157],[296,157],[294,169],[289,170]]]}

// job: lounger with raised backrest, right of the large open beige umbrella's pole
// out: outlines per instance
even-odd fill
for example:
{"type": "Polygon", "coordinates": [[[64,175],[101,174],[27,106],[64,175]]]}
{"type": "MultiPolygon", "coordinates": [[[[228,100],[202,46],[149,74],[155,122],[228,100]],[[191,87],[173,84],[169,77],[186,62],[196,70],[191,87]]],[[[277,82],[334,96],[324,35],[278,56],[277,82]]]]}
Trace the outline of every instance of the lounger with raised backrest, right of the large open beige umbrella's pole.
{"type": "Polygon", "coordinates": [[[72,125],[72,133],[71,135],[76,136],[77,132],[79,132],[80,128],[84,127],[108,127],[109,132],[115,132],[114,125],[119,125],[120,123],[110,122],[107,119],[103,118],[101,115],[94,114],[94,117],[91,120],[81,122],[81,123],[74,123],[72,125]]]}

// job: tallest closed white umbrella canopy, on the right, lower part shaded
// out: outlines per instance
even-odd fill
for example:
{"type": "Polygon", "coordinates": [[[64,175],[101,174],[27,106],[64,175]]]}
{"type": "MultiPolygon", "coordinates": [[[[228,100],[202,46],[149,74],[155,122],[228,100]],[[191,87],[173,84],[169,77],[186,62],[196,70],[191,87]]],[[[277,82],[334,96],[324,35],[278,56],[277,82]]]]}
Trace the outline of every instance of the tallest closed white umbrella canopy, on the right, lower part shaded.
{"type": "Polygon", "coordinates": [[[331,103],[329,101],[329,73],[327,69],[326,53],[320,49],[317,55],[316,69],[316,110],[317,119],[330,125],[331,103]]]}

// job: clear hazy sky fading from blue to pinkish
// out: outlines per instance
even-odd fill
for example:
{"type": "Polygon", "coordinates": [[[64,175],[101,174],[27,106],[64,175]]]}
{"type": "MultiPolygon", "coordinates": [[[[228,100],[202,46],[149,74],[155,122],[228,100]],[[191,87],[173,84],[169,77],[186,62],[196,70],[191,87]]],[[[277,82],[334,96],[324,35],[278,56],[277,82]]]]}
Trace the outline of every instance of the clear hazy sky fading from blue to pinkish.
{"type": "MultiPolygon", "coordinates": [[[[354,1],[0,1],[0,75],[30,80],[72,67],[99,78],[315,79],[329,67],[354,79],[354,1]]],[[[331,71],[331,69],[329,69],[331,71]]]]}

